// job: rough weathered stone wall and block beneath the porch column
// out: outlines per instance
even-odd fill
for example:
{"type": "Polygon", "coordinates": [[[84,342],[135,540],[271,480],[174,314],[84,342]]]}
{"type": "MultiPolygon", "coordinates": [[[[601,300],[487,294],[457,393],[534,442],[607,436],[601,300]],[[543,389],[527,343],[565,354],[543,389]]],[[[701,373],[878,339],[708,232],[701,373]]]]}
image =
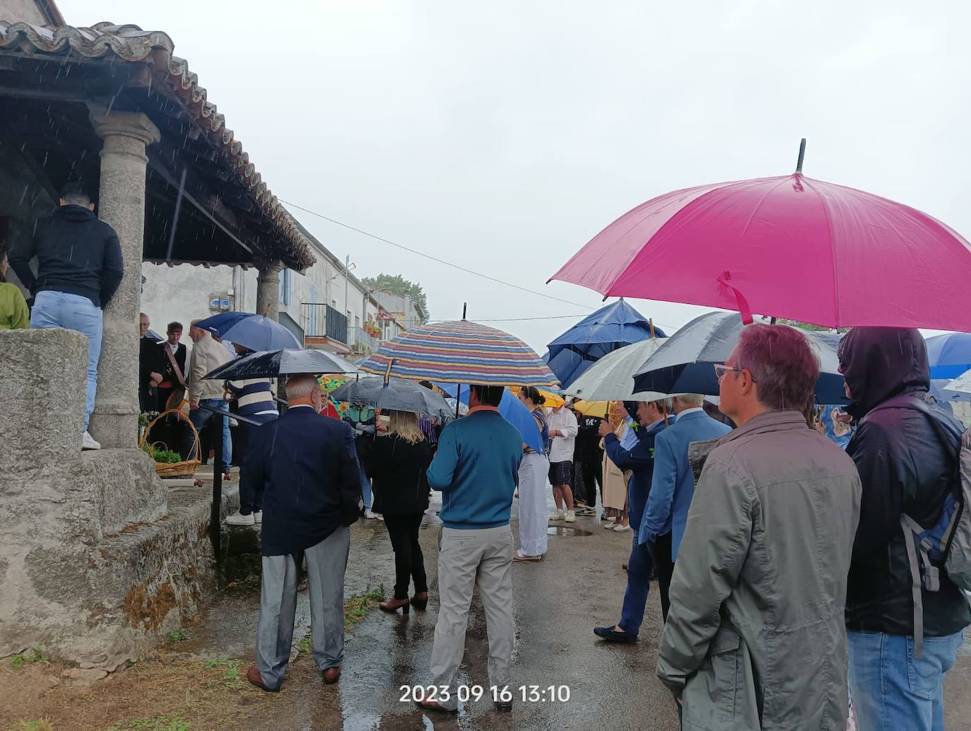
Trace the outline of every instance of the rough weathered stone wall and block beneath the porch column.
{"type": "Polygon", "coordinates": [[[76,332],[0,331],[0,656],[113,670],[199,609],[215,561],[204,491],[173,499],[139,449],[81,451],[86,361],[76,332]]]}

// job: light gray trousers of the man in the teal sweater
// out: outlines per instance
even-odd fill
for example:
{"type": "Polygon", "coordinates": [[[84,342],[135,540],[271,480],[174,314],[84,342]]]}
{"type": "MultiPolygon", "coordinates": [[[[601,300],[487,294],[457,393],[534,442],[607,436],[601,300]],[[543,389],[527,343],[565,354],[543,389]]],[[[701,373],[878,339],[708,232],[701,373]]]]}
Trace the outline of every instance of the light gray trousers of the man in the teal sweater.
{"type": "Polygon", "coordinates": [[[513,661],[513,533],[508,525],[483,530],[442,528],[438,544],[438,621],[431,649],[434,685],[447,685],[458,706],[455,681],[465,652],[472,591],[479,585],[488,633],[489,684],[510,685],[513,661]]]}

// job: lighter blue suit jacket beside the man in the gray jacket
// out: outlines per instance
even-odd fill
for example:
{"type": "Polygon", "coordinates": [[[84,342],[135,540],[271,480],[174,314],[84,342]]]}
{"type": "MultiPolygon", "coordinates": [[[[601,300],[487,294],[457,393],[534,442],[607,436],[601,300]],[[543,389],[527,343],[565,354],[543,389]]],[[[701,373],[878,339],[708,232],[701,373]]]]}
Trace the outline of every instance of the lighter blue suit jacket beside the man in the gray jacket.
{"type": "Polygon", "coordinates": [[[654,473],[648,507],[638,541],[656,541],[671,533],[671,560],[678,557],[681,537],[685,535],[687,509],[694,495],[694,475],[687,461],[692,442],[718,439],[731,428],[704,412],[691,412],[654,439],[654,473]]]}

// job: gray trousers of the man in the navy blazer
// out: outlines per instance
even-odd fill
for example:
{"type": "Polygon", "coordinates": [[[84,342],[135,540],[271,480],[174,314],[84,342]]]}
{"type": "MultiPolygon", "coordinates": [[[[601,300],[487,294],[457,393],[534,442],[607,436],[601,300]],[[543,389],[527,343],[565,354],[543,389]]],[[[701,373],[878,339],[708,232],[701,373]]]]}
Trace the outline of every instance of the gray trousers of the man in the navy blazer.
{"type": "MultiPolygon", "coordinates": [[[[320,670],[340,667],[344,659],[344,571],[348,567],[350,548],[351,529],[344,525],[317,546],[304,551],[310,584],[314,662],[320,670]]],[[[290,660],[298,568],[292,555],[263,556],[256,668],[270,688],[280,687],[290,660]]]]}

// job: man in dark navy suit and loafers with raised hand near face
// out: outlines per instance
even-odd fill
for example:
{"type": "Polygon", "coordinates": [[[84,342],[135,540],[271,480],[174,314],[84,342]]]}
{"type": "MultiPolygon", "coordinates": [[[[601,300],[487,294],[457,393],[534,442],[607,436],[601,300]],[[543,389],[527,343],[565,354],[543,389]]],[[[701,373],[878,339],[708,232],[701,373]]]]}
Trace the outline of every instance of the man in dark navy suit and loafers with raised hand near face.
{"type": "MultiPolygon", "coordinates": [[[[624,402],[624,408],[628,412],[632,407],[630,402],[624,402]]],[[[623,449],[620,446],[620,441],[608,422],[603,421],[600,424],[600,436],[604,438],[607,457],[621,470],[630,470],[633,473],[627,483],[627,507],[630,527],[634,529],[634,541],[627,560],[627,589],[623,594],[620,621],[611,627],[593,628],[593,634],[608,642],[633,645],[637,642],[637,633],[644,621],[653,561],[648,547],[642,546],[638,541],[638,530],[648,496],[651,494],[654,442],[667,426],[670,410],[671,405],[666,399],[637,403],[636,415],[633,415],[637,421],[637,444],[633,449],[623,449]]]]}

